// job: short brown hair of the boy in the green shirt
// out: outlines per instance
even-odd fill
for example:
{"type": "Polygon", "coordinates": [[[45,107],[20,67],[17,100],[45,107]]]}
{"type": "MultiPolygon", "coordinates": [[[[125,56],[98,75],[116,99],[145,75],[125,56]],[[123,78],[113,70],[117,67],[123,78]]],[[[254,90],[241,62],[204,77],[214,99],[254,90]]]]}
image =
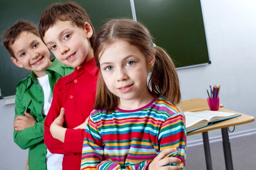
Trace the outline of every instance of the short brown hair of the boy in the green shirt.
{"type": "Polygon", "coordinates": [[[23,31],[27,31],[29,33],[33,33],[34,35],[40,38],[38,29],[36,25],[31,21],[18,20],[16,21],[9,29],[6,29],[3,34],[2,44],[10,53],[11,57],[16,58],[11,45],[20,37],[20,33],[23,31]]]}

